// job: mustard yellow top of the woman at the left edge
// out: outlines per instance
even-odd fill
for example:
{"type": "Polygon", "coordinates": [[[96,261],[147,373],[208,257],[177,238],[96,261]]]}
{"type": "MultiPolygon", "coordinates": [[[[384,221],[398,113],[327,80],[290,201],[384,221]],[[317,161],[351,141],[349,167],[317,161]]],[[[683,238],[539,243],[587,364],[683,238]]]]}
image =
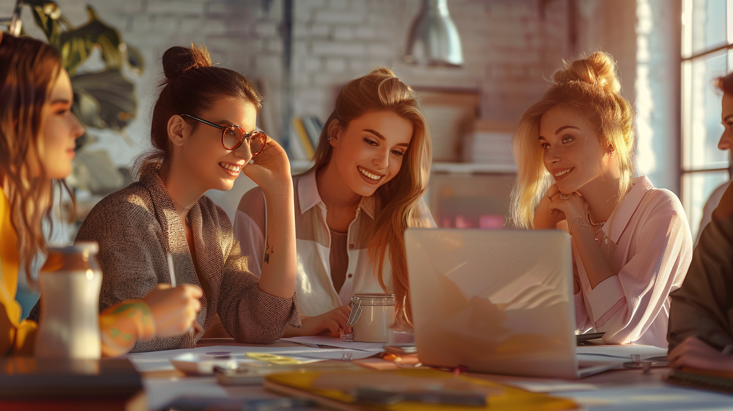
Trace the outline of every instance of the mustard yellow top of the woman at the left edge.
{"type": "MultiPolygon", "coordinates": [[[[18,291],[18,234],[10,220],[10,203],[0,195],[0,355],[32,355],[38,324],[21,321],[18,291]]],[[[125,354],[137,341],[155,335],[150,307],[130,299],[104,310],[99,316],[103,357],[125,354]]]]}

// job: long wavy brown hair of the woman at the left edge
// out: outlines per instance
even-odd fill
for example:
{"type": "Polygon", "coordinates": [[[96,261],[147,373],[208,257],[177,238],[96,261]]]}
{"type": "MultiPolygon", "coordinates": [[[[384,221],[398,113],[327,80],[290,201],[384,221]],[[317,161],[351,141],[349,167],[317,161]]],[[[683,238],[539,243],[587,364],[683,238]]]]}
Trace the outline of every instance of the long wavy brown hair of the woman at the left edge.
{"type": "MultiPolygon", "coordinates": [[[[40,164],[43,105],[61,70],[59,54],[48,44],[0,33],[0,179],[7,179],[18,262],[29,285],[35,284],[33,258],[46,250],[42,222],[51,222],[53,203],[54,181],[40,164]]],[[[71,194],[63,181],[57,183],[71,194]]]]}

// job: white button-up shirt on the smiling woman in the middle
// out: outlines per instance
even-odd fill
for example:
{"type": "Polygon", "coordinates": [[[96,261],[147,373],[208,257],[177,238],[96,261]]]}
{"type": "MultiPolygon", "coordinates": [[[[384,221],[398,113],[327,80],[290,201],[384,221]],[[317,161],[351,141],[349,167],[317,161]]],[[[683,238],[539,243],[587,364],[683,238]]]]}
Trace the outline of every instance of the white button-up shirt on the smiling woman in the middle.
{"type": "MultiPolygon", "coordinates": [[[[292,178],[295,192],[295,237],[298,252],[298,274],[295,291],[298,309],[303,316],[317,316],[349,303],[358,293],[383,293],[379,283],[375,261],[369,258],[375,216],[375,198],[363,197],[356,208],[356,217],[349,225],[347,254],[349,258],[346,278],[336,293],[331,281],[331,231],[326,225],[325,203],[318,194],[315,172],[292,178]]],[[[423,217],[434,227],[430,211],[421,202],[423,217]]],[[[259,187],[242,197],[237,208],[234,232],[240,241],[242,255],[250,256],[249,269],[254,274],[262,272],[265,253],[265,194],[259,187]]],[[[386,252],[383,279],[391,288],[391,265],[386,252]]]]}

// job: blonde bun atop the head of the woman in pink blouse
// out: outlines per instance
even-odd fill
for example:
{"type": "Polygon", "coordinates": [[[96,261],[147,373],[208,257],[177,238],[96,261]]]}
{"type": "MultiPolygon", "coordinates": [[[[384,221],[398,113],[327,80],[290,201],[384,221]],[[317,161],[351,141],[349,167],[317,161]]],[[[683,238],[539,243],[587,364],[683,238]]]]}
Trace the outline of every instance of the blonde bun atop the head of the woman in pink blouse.
{"type": "Polygon", "coordinates": [[[555,72],[553,81],[556,84],[582,81],[600,90],[614,93],[621,90],[621,81],[616,73],[614,58],[603,51],[596,51],[585,59],[563,62],[563,68],[555,72]]]}

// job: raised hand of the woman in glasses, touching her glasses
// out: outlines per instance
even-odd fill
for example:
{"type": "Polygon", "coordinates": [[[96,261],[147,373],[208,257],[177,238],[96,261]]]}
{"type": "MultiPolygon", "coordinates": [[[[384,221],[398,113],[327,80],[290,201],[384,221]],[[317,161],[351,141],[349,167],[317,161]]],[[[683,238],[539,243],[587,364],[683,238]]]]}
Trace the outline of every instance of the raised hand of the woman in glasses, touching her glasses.
{"type": "Polygon", "coordinates": [[[268,136],[265,148],[252,159],[254,161],[246,164],[242,172],[262,187],[265,193],[288,187],[292,189],[290,161],[285,150],[275,140],[268,136]]]}

